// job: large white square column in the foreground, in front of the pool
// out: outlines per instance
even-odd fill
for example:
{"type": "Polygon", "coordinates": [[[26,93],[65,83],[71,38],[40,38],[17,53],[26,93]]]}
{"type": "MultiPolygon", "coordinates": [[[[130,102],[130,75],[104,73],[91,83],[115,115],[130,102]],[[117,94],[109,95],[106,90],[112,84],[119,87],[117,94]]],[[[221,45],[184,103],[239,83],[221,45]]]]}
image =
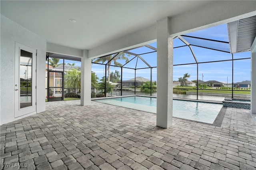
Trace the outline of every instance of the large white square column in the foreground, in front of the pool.
{"type": "Polygon", "coordinates": [[[168,18],[157,22],[157,105],[156,126],[172,126],[173,38],[168,18]]]}

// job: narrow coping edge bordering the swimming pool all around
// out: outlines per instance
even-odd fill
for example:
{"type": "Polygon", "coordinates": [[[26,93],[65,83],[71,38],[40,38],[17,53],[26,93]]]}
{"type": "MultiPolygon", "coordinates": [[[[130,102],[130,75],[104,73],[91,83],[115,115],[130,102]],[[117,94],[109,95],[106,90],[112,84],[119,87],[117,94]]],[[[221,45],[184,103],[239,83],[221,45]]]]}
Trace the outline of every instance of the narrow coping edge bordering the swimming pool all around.
{"type": "MultiPolygon", "coordinates": [[[[92,101],[95,101],[95,100],[101,100],[101,99],[113,99],[113,98],[120,98],[120,97],[132,97],[132,96],[141,96],[141,97],[154,97],[156,98],[156,96],[147,96],[147,95],[125,95],[125,96],[114,96],[114,97],[98,97],[98,98],[93,98],[92,101]]],[[[196,99],[181,99],[181,98],[176,98],[174,97],[173,98],[174,100],[184,100],[184,101],[196,101],[196,102],[204,102],[204,103],[217,103],[217,104],[222,104],[221,101],[206,101],[206,100],[196,100],[196,99]]],[[[95,101],[97,102],[97,101],[95,101]]],[[[100,103],[100,102],[99,102],[100,103]]],[[[112,104],[109,104],[109,103],[104,103],[106,105],[112,105],[112,104]]],[[[116,105],[115,105],[116,106],[116,105]]],[[[122,106],[118,106],[118,107],[122,107],[122,106]]],[[[124,108],[128,108],[128,107],[124,107],[124,108]]],[[[133,109],[133,108],[128,108],[128,109],[133,109]]],[[[221,127],[222,125],[222,122],[223,122],[223,119],[224,119],[224,116],[226,114],[226,109],[227,107],[222,107],[220,109],[220,112],[218,113],[218,115],[216,116],[214,122],[211,124],[211,123],[205,123],[205,122],[200,122],[200,121],[194,121],[194,120],[190,120],[190,119],[184,119],[184,118],[180,118],[180,117],[174,117],[176,119],[181,119],[181,120],[186,120],[186,121],[193,121],[193,122],[196,122],[196,123],[203,123],[203,124],[206,124],[206,125],[212,125],[212,126],[216,126],[216,127],[221,127]]],[[[138,109],[133,109],[133,110],[137,110],[137,111],[142,111],[142,110],[138,110],[138,109]]],[[[152,114],[156,114],[156,113],[153,113],[153,112],[148,112],[148,111],[144,111],[144,112],[147,112],[147,113],[152,113],[152,114]]]]}

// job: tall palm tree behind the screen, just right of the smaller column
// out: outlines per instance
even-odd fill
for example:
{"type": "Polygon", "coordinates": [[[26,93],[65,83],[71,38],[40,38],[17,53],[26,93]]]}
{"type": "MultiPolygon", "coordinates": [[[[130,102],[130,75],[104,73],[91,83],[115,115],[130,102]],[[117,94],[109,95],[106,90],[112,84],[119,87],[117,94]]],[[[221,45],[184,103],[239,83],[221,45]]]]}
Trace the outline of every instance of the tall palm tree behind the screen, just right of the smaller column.
{"type": "MultiPolygon", "coordinates": [[[[115,54],[114,54],[115,55],[115,54]]],[[[122,64],[118,63],[117,60],[125,60],[125,62],[127,63],[129,61],[128,57],[125,56],[125,53],[120,52],[118,53],[118,55],[116,55],[116,57],[114,57],[114,55],[108,55],[106,57],[100,57],[100,58],[96,58],[93,62],[95,63],[104,63],[105,61],[107,61],[107,65],[108,65],[108,83],[110,81],[110,65],[112,63],[112,61],[114,61],[114,65],[121,67],[122,64]],[[114,58],[113,58],[114,57],[114,58]],[[112,59],[113,58],[113,59],[112,59]]],[[[128,54],[128,56],[130,56],[128,54]]]]}

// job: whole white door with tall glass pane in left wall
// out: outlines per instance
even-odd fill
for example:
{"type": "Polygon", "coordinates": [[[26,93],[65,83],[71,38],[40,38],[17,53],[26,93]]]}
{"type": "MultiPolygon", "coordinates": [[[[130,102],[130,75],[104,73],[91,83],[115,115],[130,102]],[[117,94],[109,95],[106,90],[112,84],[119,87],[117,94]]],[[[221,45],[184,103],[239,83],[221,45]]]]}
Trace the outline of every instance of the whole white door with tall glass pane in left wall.
{"type": "Polygon", "coordinates": [[[36,112],[36,49],[15,43],[15,117],[36,112]]]}

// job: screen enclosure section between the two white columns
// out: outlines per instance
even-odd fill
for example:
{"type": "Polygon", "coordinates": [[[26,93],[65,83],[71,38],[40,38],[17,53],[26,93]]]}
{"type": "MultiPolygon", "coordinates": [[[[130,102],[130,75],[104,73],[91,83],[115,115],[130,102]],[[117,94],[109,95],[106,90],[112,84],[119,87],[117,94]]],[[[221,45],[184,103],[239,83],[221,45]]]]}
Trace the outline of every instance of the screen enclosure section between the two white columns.
{"type": "Polygon", "coordinates": [[[102,68],[101,81],[106,83],[93,88],[105,96],[156,95],[156,43],[96,58],[92,71],[98,68],[102,68]]]}

